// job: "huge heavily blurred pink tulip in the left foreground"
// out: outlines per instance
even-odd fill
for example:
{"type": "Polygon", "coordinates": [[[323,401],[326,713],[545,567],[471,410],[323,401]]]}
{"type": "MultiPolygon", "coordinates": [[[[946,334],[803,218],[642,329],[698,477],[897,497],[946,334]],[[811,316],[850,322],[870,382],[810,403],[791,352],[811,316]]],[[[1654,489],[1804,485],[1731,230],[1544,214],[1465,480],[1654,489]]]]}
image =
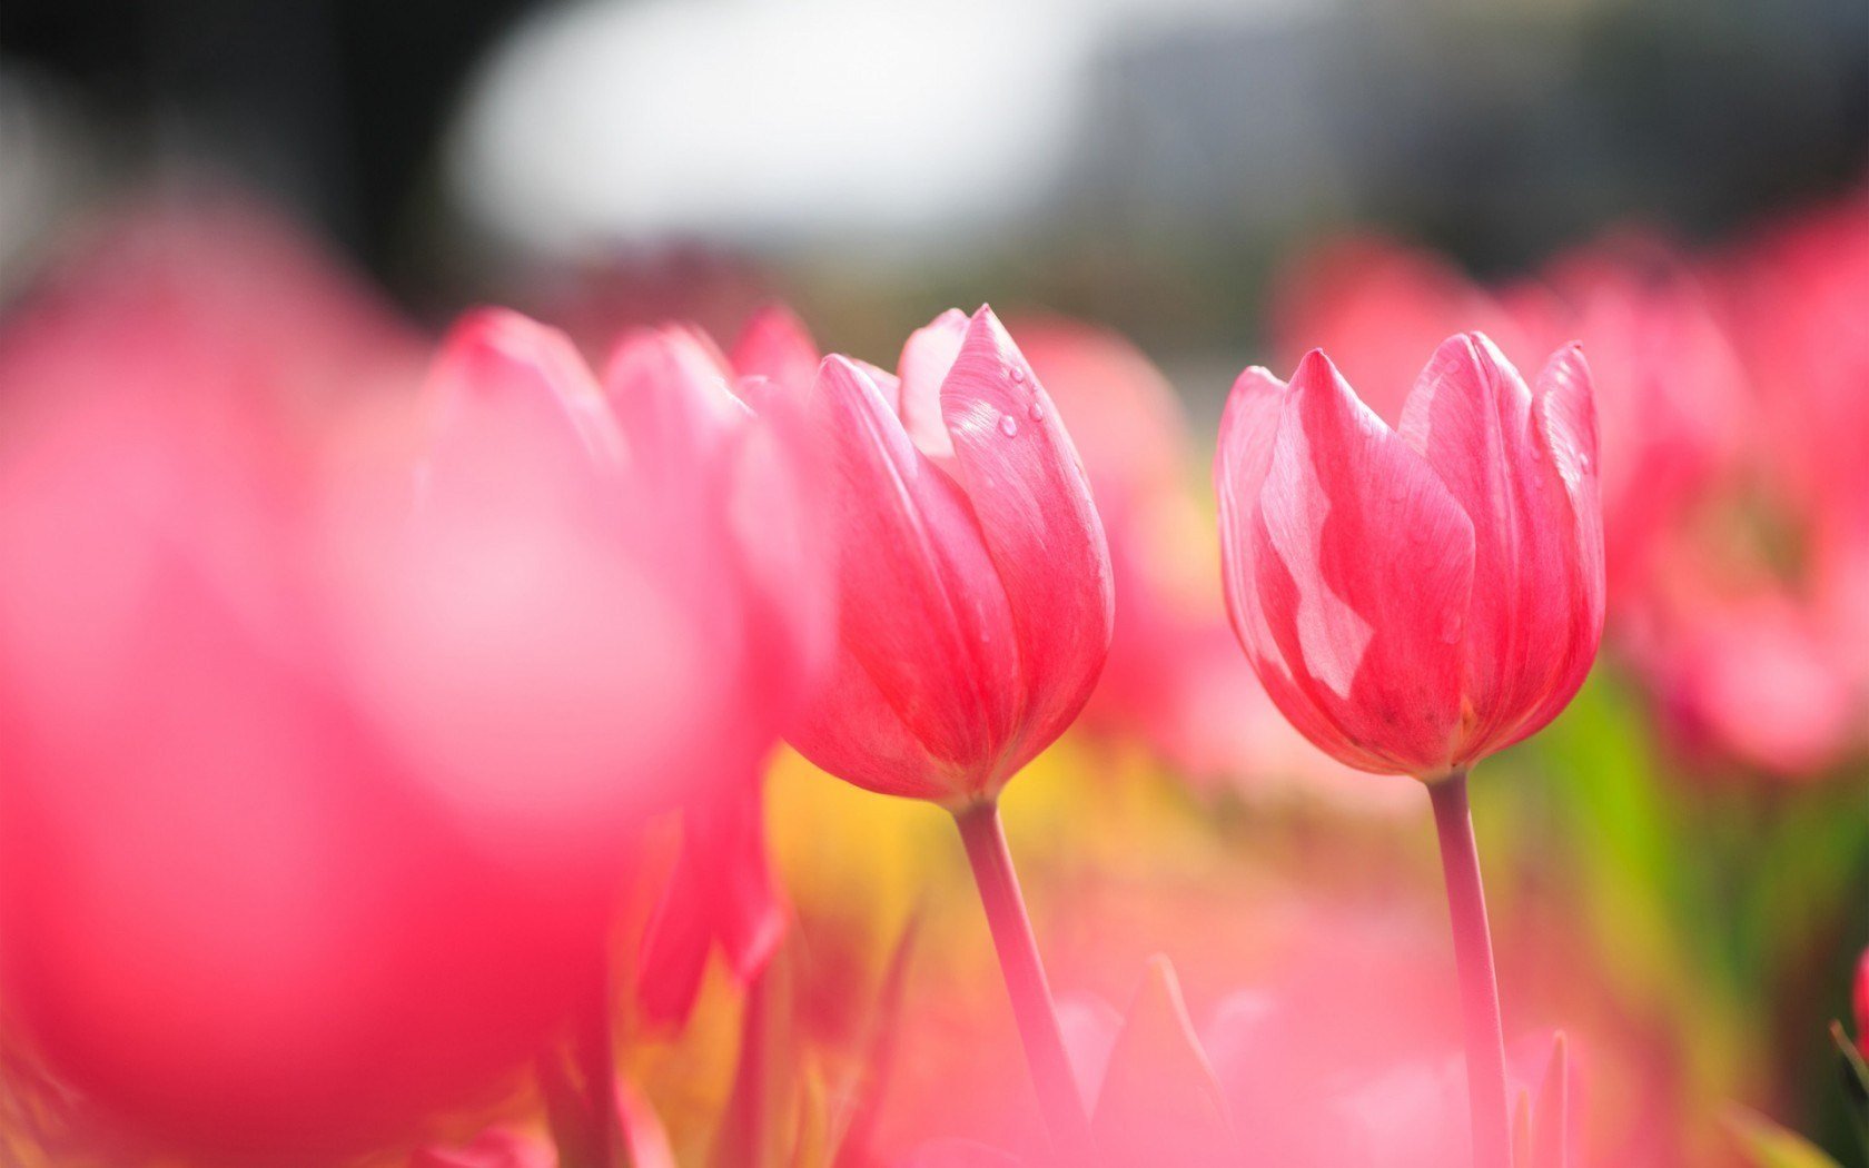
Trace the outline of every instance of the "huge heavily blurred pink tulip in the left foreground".
{"type": "Polygon", "coordinates": [[[9,1030],[135,1138],[336,1155],[525,1060],[596,918],[512,886],[361,708],[329,415],[297,396],[327,336],[245,348],[299,292],[232,239],[0,344],[0,977],[9,1030]]]}

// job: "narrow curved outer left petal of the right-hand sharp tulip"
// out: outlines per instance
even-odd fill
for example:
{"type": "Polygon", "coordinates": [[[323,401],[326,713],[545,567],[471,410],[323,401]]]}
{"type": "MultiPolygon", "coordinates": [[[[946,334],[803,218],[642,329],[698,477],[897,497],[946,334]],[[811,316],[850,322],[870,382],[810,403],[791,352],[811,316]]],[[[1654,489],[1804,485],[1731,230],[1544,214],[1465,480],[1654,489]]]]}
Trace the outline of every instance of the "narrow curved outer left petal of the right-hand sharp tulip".
{"type": "Polygon", "coordinates": [[[1226,583],[1226,609],[1239,645],[1267,697],[1306,738],[1333,755],[1355,755],[1353,766],[1387,770],[1387,762],[1342,740],[1329,716],[1299,686],[1286,667],[1273,630],[1260,605],[1258,570],[1252,555],[1258,540],[1260,490],[1271,469],[1273,439],[1284,415],[1286,383],[1262,366],[1239,374],[1220,417],[1220,441],[1213,460],[1213,490],[1220,501],[1220,576],[1226,583]],[[1333,744],[1334,746],[1327,746],[1333,744]]]}

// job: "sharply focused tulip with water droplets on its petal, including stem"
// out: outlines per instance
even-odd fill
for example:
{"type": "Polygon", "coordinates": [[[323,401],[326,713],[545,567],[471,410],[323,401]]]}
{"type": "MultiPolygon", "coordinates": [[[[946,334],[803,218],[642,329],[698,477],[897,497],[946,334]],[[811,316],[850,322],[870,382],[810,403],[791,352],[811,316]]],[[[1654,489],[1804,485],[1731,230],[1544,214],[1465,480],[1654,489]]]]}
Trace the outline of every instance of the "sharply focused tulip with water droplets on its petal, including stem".
{"type": "Polygon", "coordinates": [[[948,312],[899,376],[830,357],[809,392],[843,531],[837,650],[792,744],[955,815],[1054,1138],[1088,1144],[998,819],[1110,647],[1110,557],[1058,411],[989,308],[948,312]]]}

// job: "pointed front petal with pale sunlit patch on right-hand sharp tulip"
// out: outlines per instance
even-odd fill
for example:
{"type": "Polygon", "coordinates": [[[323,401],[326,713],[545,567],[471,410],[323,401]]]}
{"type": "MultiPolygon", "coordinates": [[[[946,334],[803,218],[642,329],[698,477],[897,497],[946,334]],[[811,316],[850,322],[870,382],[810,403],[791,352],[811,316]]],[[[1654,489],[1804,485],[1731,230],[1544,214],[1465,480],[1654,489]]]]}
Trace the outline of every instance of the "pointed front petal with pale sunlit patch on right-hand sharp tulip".
{"type": "Polygon", "coordinates": [[[1320,746],[1351,766],[1445,772],[1473,523],[1323,353],[1291,377],[1254,540],[1273,641],[1340,734],[1320,746]]]}

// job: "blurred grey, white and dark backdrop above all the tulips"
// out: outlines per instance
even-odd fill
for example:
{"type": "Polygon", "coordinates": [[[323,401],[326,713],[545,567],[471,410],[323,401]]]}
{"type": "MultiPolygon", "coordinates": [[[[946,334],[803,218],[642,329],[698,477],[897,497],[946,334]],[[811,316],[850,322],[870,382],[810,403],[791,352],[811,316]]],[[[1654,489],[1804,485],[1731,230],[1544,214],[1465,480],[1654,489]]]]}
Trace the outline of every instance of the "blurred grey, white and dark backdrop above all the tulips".
{"type": "Polygon", "coordinates": [[[206,170],[424,320],[607,297],[731,329],[778,292],[888,353],[991,297],[1116,327],[1207,419],[1278,264],[1344,224],[1499,275],[1858,181],[1869,9],[13,0],[0,138],[7,292],[60,222],[206,170]]]}

